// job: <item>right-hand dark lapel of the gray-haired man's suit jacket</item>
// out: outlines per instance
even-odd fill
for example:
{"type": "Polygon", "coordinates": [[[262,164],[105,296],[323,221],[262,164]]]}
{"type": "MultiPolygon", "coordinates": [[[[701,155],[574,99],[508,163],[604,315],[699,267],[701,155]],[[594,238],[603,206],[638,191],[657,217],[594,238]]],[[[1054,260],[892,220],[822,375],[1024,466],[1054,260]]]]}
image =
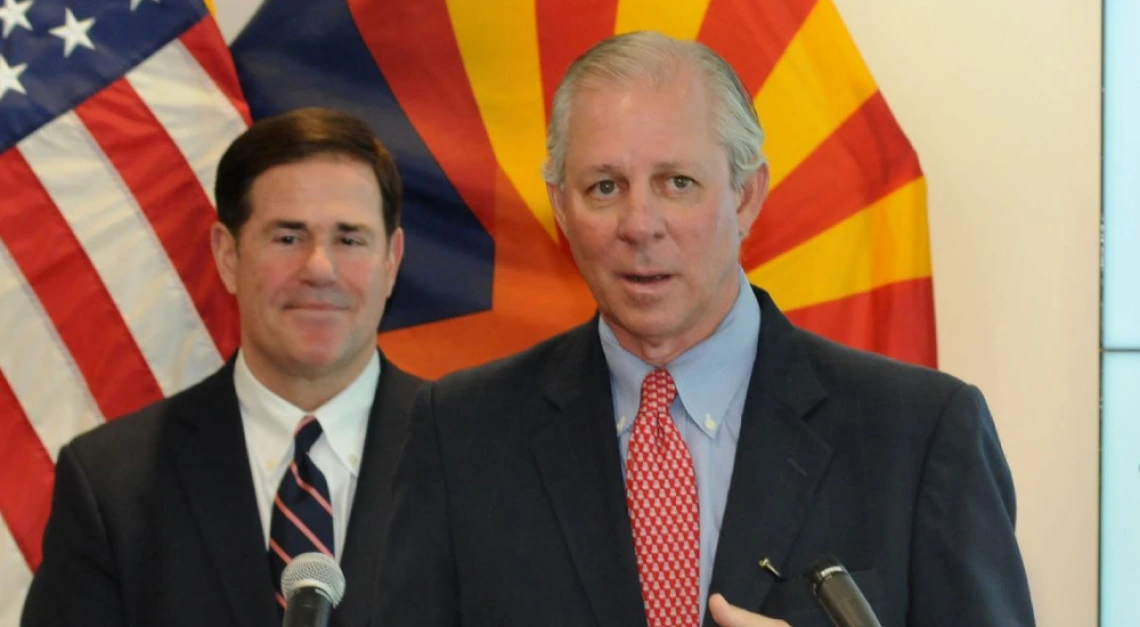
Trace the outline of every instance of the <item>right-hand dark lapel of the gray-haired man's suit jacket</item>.
{"type": "MultiPolygon", "coordinates": [[[[830,447],[804,422],[825,392],[798,332],[766,293],[756,294],[760,342],[709,587],[710,595],[722,593],[750,611],[760,608],[774,583],[760,560],[784,564],[831,459],[830,447]]],[[[715,626],[708,612],[703,625],[715,626]]]]}

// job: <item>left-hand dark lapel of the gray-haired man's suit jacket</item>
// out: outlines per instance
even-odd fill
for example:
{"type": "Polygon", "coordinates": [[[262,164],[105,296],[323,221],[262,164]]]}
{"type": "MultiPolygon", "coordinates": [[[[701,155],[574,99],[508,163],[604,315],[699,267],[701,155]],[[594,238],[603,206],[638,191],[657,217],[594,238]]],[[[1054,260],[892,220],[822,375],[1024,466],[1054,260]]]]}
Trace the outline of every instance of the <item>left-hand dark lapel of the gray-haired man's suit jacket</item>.
{"type": "Polygon", "coordinates": [[[597,624],[644,626],[609,369],[596,329],[595,318],[572,332],[542,373],[554,416],[531,453],[597,624]]]}

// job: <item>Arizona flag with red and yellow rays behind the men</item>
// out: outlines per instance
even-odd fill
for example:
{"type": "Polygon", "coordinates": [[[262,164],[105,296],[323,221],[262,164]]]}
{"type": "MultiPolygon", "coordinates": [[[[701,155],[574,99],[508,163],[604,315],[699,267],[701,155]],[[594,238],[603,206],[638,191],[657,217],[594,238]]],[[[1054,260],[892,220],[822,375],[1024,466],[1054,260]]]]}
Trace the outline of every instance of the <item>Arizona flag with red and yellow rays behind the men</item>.
{"type": "Polygon", "coordinates": [[[341,108],[392,149],[407,256],[380,342],[438,376],[593,312],[545,128],[570,63],[636,30],[708,44],[755,95],[772,194],[749,279],[800,326],[934,366],[926,185],[831,0],[267,0],[231,50],[254,117],[341,108]]]}

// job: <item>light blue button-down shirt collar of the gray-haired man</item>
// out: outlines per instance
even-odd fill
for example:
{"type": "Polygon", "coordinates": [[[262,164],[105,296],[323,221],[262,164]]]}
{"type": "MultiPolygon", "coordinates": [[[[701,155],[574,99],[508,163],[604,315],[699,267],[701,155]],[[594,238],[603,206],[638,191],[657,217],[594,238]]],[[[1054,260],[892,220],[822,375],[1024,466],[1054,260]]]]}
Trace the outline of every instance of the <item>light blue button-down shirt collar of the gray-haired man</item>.
{"type": "MultiPolygon", "coordinates": [[[[760,306],[744,271],[740,271],[740,292],[728,314],[716,331],[697,345],[681,353],[666,368],[677,386],[677,398],[684,410],[707,435],[714,437],[726,416],[736,391],[746,384],[756,361],[760,332],[760,306]],[[710,373],[716,373],[709,376],[710,373]],[[710,422],[711,418],[711,422],[710,422]]],[[[602,351],[610,368],[614,393],[614,420],[618,434],[633,426],[641,402],[641,385],[653,366],[642,361],[618,343],[613,329],[598,316],[602,351]]],[[[734,430],[739,431],[739,424],[734,430]]]]}

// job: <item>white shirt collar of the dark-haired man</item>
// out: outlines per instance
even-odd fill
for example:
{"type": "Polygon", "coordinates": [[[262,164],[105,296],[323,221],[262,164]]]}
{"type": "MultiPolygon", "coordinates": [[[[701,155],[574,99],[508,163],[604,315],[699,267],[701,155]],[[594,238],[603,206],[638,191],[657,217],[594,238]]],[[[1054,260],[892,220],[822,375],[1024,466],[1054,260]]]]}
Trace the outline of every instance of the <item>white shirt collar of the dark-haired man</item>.
{"type": "Polygon", "coordinates": [[[374,352],[364,370],[335,397],[314,412],[306,412],[266,388],[250,370],[241,350],[234,365],[234,388],[243,420],[250,422],[250,450],[268,467],[290,459],[293,430],[307,415],[316,416],[329,448],[352,475],[359,472],[368,416],[380,383],[380,353],[374,352]]]}

